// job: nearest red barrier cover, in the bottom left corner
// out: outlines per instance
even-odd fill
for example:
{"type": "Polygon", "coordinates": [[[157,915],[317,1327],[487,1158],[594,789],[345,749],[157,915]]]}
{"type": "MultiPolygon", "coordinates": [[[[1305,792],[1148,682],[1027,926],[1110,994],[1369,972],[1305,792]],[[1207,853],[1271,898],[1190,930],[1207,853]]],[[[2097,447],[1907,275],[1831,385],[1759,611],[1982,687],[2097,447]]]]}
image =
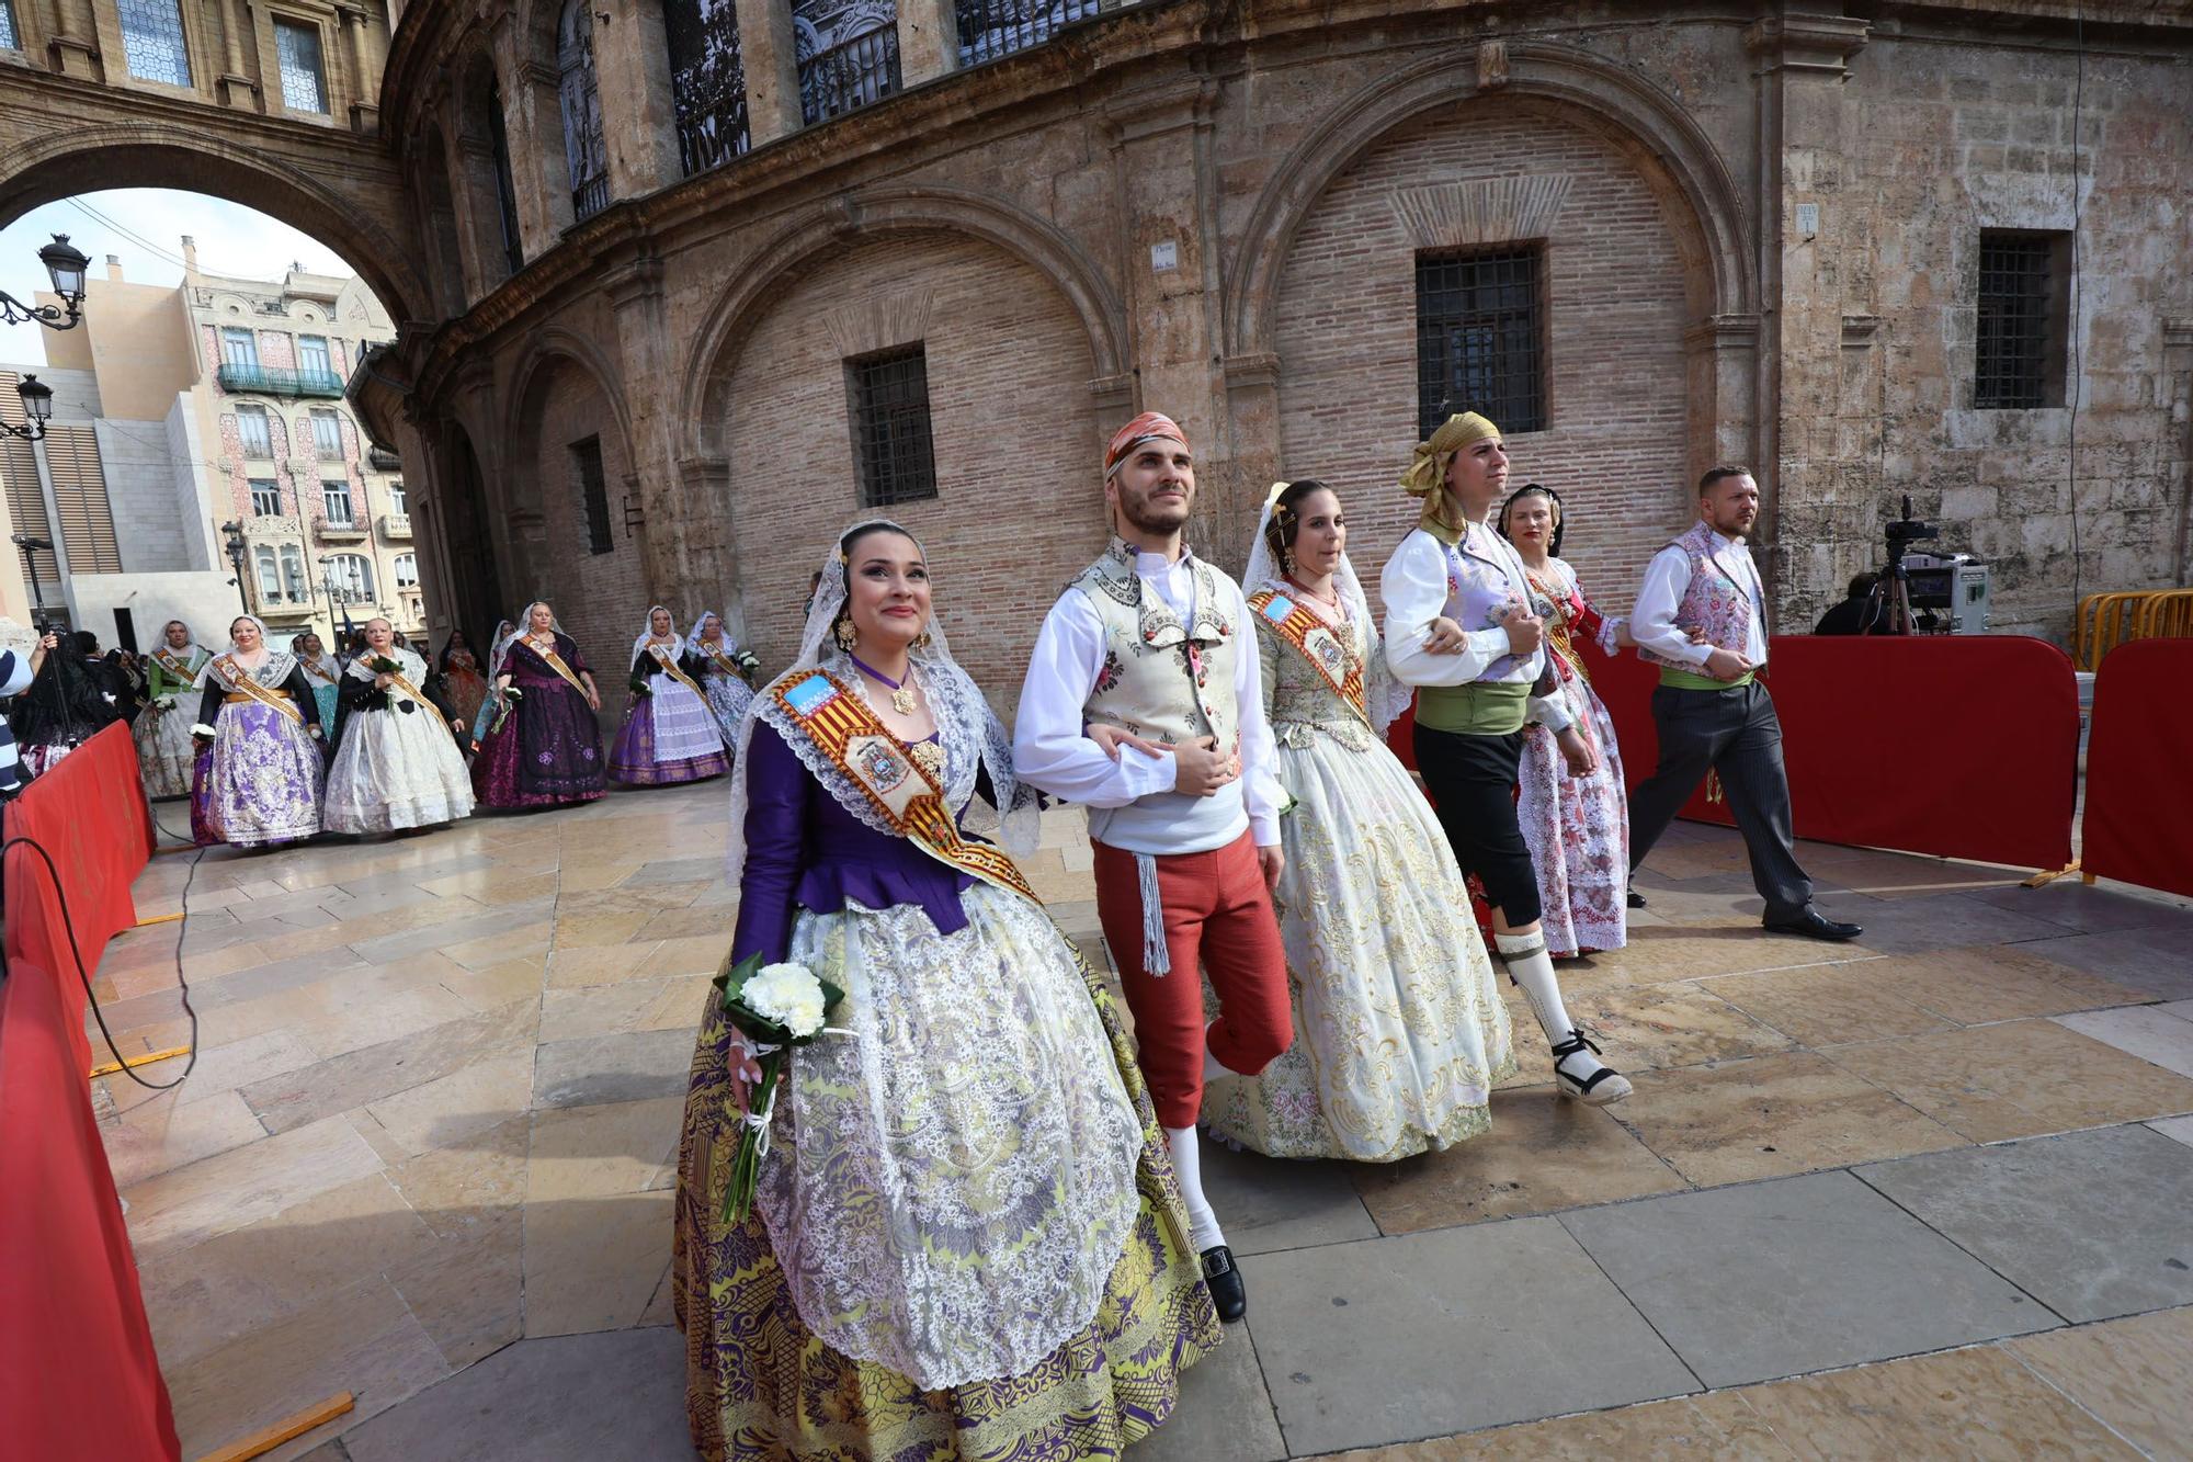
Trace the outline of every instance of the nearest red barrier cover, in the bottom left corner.
{"type": "Polygon", "coordinates": [[[75,972],[64,983],[11,957],[0,983],[0,1455],[178,1462],[81,1036],[75,972]]]}

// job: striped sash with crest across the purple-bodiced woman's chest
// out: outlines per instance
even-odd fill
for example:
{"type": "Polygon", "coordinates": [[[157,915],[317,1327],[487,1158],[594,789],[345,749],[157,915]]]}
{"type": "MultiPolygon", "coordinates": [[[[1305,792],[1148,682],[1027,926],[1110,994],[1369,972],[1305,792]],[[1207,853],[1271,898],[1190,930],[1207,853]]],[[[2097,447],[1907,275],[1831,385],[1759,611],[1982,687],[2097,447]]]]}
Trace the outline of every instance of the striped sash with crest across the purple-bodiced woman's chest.
{"type": "Polygon", "coordinates": [[[936,777],[906,755],[899,738],[833,674],[816,670],[774,687],[770,698],[783,707],[800,735],[814,742],[816,751],[862,790],[868,806],[882,812],[899,836],[910,839],[914,847],[939,863],[1042,907],[1035,889],[1002,850],[961,836],[936,777]]]}

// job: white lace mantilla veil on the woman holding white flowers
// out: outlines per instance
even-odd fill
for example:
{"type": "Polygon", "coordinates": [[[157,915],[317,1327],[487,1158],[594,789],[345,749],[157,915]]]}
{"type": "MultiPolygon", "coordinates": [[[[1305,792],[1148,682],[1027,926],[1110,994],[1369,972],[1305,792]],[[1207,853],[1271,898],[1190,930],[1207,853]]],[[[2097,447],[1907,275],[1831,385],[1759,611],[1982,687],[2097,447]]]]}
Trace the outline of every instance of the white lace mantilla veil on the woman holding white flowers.
{"type": "MultiPolygon", "coordinates": [[[[838,544],[844,542],[846,533],[871,527],[890,529],[910,538],[914,547],[921,547],[919,538],[888,518],[862,518],[833,538],[829,551],[822,555],[822,577],[816,582],[814,604],[807,606],[807,628],[800,632],[798,659],[792,661],[785,674],[761,687],[754,705],[739,720],[739,744],[732,749],[730,845],[724,856],[724,867],[732,882],[739,882],[746,874],[746,777],[752,766],[746,751],[754,740],[757,718],[768,720],[785,738],[785,744],[800,757],[809,775],[838,799],[838,806],[868,828],[897,836],[882,814],[868,806],[866,795],[831,766],[805,735],[794,733],[772,694],[779,685],[796,683],[816,670],[827,670],[844,685],[860,681],[860,670],[853,667],[853,659],[831,639],[831,628],[838,623],[846,599],[846,562],[838,555],[838,544]]],[[[928,549],[923,549],[923,555],[928,555],[928,549]]],[[[989,773],[989,786],[998,799],[996,841],[1015,856],[1035,852],[1039,832],[1035,788],[1024,786],[1013,775],[1013,738],[1007,735],[1004,724],[989,709],[974,678],[952,659],[943,619],[934,610],[930,612],[930,643],[912,650],[910,659],[921,683],[921,694],[936,718],[936,740],[945,753],[945,803],[956,817],[965,814],[967,803],[974,801],[976,771],[989,773]]]]}

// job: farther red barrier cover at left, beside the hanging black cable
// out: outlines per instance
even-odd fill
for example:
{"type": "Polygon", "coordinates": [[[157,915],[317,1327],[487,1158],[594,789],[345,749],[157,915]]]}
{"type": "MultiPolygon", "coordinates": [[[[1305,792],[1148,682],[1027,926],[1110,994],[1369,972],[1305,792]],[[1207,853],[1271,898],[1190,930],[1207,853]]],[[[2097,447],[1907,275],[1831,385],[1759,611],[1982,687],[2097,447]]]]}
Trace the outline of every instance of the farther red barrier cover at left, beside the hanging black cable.
{"type": "MultiPolygon", "coordinates": [[[[123,929],[136,924],[129,885],[151,858],[151,808],[138,784],[136,742],[127,724],[112,724],[77,746],[7,806],[7,836],[35,839],[53,856],[68,891],[77,951],[86,972],[99,972],[99,957],[123,929]]],[[[68,953],[68,926],[46,861],[29,847],[7,850],[7,961],[33,964],[59,981],[61,1005],[75,1010],[70,1032],[77,1073],[92,1069],[92,1045],[83,1032],[83,981],[68,953]]]]}

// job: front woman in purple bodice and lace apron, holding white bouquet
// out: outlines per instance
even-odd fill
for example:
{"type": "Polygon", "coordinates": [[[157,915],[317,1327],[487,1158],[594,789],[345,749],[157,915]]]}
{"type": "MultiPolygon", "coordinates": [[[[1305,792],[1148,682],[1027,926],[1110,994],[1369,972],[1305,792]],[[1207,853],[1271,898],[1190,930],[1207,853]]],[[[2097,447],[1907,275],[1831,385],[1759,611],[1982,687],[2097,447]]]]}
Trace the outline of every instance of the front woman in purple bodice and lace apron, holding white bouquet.
{"type": "Polygon", "coordinates": [[[1033,850],[1035,790],[906,529],[838,542],[798,661],[739,731],[730,953],[844,997],[794,1047],[746,1218],[724,1196],[759,1067],[715,990],[702,1012],[671,1260],[695,1447],[1116,1458],[1171,1414],[1217,1313],[1107,988],[952,832],[987,788],[1000,841],[1033,850]]]}

